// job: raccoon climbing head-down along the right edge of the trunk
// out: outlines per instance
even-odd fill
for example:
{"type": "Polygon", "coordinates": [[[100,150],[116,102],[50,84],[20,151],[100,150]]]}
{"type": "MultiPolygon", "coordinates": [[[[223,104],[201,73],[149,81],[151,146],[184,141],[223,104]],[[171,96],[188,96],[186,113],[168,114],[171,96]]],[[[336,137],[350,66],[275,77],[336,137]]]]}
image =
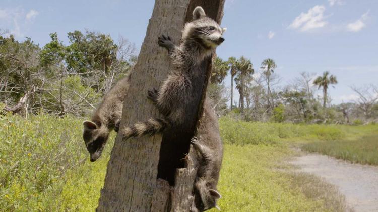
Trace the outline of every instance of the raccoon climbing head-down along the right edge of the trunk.
{"type": "Polygon", "coordinates": [[[205,211],[213,207],[220,209],[217,200],[222,196],[217,191],[217,184],[223,158],[223,144],[219,135],[218,120],[208,99],[204,102],[204,115],[198,129],[198,139],[193,137],[191,143],[197,150],[199,162],[191,212],[205,211]]]}

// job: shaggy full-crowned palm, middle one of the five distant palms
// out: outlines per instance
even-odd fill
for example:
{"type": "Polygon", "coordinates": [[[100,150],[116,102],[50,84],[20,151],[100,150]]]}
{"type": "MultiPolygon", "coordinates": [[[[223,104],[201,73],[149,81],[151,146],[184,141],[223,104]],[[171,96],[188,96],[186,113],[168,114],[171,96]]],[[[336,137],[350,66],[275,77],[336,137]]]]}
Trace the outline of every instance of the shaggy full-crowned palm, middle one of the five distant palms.
{"type": "Polygon", "coordinates": [[[245,57],[241,56],[236,62],[236,88],[239,91],[240,98],[239,98],[239,107],[241,110],[244,109],[244,95],[245,91],[252,80],[252,75],[254,74],[255,70],[253,69],[253,65],[250,60],[246,59],[245,57]]]}

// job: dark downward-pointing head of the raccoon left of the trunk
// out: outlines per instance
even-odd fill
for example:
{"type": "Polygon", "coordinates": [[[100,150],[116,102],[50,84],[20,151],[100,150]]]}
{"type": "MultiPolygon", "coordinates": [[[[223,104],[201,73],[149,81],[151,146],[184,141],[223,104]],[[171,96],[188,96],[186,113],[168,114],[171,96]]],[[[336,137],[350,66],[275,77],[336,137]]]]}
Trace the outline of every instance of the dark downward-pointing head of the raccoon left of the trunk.
{"type": "Polygon", "coordinates": [[[90,154],[91,162],[100,158],[102,151],[105,147],[106,141],[109,137],[108,129],[92,121],[84,121],[83,139],[85,146],[90,154]]]}

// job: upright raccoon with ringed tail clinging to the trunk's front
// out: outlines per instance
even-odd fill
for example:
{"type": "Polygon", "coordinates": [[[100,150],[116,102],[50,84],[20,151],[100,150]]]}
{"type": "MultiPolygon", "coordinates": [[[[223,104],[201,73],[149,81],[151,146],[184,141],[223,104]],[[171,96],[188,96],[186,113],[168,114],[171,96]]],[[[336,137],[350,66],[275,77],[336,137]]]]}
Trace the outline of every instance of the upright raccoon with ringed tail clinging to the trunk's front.
{"type": "Polygon", "coordinates": [[[148,98],[156,105],[163,118],[150,118],[145,122],[122,129],[123,138],[153,135],[168,128],[190,131],[195,126],[198,105],[204,80],[203,66],[224,38],[221,28],[207,17],[202,7],[193,11],[193,21],[185,24],[181,44],[173,44],[169,36],[158,37],[158,44],[168,50],[173,70],[159,90],[148,91],[148,98]],[[191,126],[191,127],[187,127],[191,126]]]}

